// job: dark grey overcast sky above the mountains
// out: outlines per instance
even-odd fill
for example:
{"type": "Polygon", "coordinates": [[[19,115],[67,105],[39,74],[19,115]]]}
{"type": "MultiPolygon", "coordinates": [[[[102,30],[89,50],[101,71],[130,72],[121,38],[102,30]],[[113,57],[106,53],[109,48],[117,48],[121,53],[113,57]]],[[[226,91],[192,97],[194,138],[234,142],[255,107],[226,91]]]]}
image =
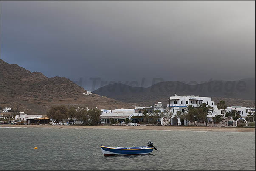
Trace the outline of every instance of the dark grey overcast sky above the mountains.
{"type": "Polygon", "coordinates": [[[1,1],[1,59],[87,90],[254,78],[255,1],[1,1]]]}

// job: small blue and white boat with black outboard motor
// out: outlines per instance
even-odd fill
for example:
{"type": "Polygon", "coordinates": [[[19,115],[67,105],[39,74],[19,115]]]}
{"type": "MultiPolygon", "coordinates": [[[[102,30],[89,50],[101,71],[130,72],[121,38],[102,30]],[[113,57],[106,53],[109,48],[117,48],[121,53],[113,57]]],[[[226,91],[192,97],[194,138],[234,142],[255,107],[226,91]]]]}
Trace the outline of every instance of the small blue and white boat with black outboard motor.
{"type": "Polygon", "coordinates": [[[104,156],[114,156],[114,155],[141,155],[150,154],[153,149],[158,150],[153,143],[150,141],[147,143],[148,146],[141,147],[107,147],[101,145],[101,151],[104,156]]]}

